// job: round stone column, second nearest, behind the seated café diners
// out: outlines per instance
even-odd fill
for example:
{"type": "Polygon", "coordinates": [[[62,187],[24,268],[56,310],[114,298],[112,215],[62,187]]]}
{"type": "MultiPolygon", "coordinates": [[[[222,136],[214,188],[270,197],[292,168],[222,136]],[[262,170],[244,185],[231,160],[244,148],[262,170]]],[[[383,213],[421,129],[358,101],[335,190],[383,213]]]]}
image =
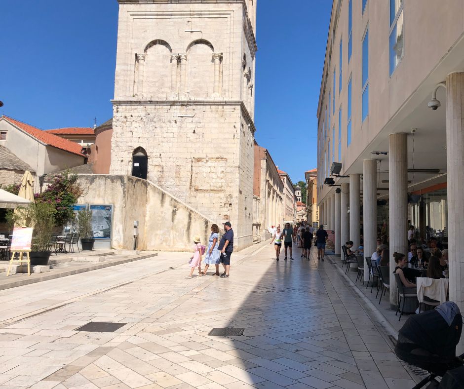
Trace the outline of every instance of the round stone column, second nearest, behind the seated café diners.
{"type": "MultiPolygon", "coordinates": [[[[408,136],[390,134],[388,142],[388,210],[390,269],[395,268],[393,253],[408,255],[408,136]]],[[[390,272],[390,305],[397,304],[395,276],[390,272]]],[[[393,308],[393,307],[392,307],[393,308]]]]}

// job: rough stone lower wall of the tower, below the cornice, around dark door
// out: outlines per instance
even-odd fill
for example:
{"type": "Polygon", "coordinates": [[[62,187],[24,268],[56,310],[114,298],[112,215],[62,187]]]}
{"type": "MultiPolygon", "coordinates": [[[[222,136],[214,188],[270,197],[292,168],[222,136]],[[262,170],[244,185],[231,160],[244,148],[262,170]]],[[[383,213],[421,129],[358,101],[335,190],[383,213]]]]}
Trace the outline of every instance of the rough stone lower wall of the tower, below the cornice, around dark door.
{"type": "Polygon", "coordinates": [[[252,244],[253,142],[240,104],[119,104],[110,174],[130,175],[134,150],[142,147],[148,180],[213,220],[230,220],[244,248],[252,244]]]}

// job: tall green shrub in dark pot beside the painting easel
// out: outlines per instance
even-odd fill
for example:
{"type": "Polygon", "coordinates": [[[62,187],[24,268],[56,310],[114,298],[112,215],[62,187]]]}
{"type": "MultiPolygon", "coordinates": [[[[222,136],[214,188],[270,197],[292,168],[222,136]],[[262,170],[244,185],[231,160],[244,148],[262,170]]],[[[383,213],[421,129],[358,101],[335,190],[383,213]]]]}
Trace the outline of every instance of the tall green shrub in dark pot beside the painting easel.
{"type": "Polygon", "coordinates": [[[28,217],[31,218],[33,226],[31,265],[48,265],[50,259],[50,240],[55,225],[55,208],[48,203],[31,204],[28,210],[28,217]]]}

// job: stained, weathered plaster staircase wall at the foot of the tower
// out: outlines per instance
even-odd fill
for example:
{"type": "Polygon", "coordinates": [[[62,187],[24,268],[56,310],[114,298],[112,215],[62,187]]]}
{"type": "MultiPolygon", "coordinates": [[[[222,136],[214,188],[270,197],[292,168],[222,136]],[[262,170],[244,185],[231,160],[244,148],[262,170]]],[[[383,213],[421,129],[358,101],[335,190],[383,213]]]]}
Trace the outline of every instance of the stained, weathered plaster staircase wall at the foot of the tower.
{"type": "Polygon", "coordinates": [[[130,176],[78,175],[79,203],[113,204],[115,249],[133,249],[133,222],[139,221],[138,250],[191,251],[193,236],[207,242],[213,223],[155,184],[130,176]]]}

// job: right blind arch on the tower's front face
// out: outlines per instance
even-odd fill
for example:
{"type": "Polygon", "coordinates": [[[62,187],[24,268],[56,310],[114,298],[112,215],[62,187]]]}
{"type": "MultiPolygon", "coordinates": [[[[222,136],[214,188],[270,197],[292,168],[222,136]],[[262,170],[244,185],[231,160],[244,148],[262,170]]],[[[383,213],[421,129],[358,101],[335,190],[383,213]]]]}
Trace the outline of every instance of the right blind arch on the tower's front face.
{"type": "Polygon", "coordinates": [[[214,93],[213,45],[205,40],[194,40],[187,47],[188,91],[194,99],[211,97],[214,93]]]}

